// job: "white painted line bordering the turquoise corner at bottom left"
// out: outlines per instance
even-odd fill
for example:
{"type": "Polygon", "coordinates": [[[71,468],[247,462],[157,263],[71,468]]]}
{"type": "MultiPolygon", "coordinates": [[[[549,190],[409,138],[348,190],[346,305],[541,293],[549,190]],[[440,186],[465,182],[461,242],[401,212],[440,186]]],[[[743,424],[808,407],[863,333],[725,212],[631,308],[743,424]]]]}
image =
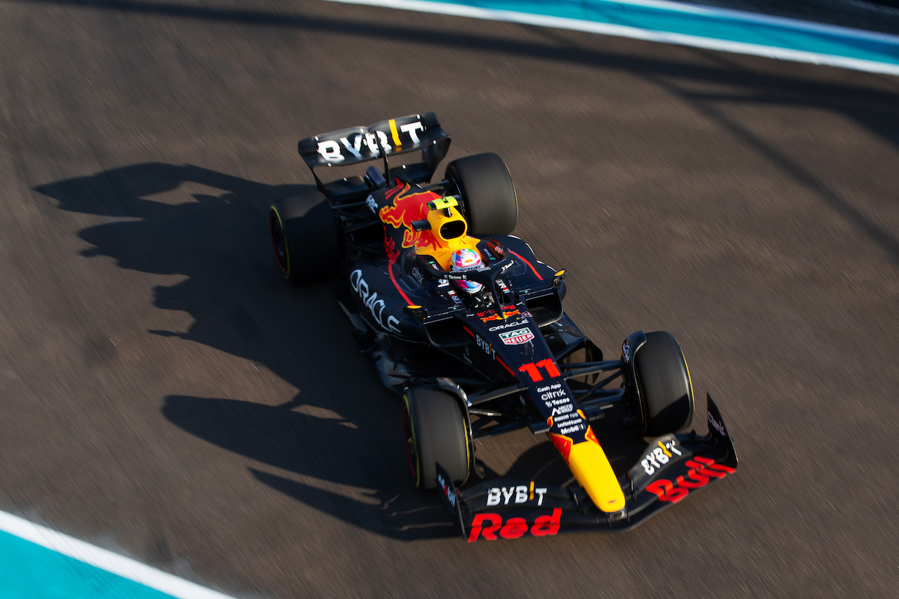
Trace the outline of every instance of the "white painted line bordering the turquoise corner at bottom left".
{"type": "Polygon", "coordinates": [[[128,578],[179,599],[233,599],[229,595],[151,568],[139,561],[126,558],[110,550],[101,549],[85,543],[85,541],[78,541],[62,532],[51,531],[45,526],[29,522],[13,514],[0,512],[0,531],[8,532],[25,541],[46,547],[69,558],[128,578]]]}

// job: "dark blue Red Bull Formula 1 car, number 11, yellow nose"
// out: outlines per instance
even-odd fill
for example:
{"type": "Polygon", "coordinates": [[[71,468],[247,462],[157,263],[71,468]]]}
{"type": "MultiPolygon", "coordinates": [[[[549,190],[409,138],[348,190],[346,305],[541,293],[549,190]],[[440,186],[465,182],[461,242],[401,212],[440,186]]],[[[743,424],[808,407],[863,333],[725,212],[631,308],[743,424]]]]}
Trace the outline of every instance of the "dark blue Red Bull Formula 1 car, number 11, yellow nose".
{"type": "Polygon", "coordinates": [[[288,281],[343,264],[343,309],[380,379],[403,396],[415,485],[437,487],[477,541],[628,529],[733,474],[734,443],[710,396],[708,434],[679,433],[694,399],[674,337],[638,331],[619,359],[603,360],[565,314],[565,271],[511,235],[518,201],[503,160],[459,158],[430,183],[449,141],[432,112],[302,139],[318,190],[276,201],[269,219],[288,281]],[[388,165],[414,150],[421,162],[388,165]],[[318,167],[378,158],[383,170],[319,178],[318,167]],[[473,265],[458,267],[461,255],[473,265]],[[613,406],[631,432],[654,437],[620,476],[591,428],[613,406]],[[548,434],[577,485],[481,479],[474,441],[524,427],[548,434]]]}

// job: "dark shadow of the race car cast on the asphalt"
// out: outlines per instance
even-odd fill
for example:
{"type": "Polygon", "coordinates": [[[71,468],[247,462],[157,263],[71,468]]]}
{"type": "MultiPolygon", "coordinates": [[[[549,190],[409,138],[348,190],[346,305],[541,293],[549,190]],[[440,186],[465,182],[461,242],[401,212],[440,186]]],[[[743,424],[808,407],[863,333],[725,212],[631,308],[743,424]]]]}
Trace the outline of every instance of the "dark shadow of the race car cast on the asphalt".
{"type": "MultiPolygon", "coordinates": [[[[453,535],[436,496],[414,488],[399,402],[360,355],[333,285],[289,286],[274,268],[267,207],[304,189],[309,186],[147,163],[36,191],[58,201],[60,210],[104,217],[78,232],[90,244],[85,257],[110,256],[129,271],[184,277],[156,285],[153,305],[185,312],[192,323],[183,331],[148,330],[149,351],[180,355],[178,344],[206,345],[298,389],[293,398],[259,401],[190,397],[173,389],[161,408],[169,422],[264,465],[249,467],[256,480],[345,522],[402,540],[453,535]],[[203,193],[182,191],[185,183],[199,183],[203,193]]],[[[187,367],[206,376],[208,366],[187,367]]],[[[607,451],[618,451],[609,443],[607,451]]],[[[625,463],[612,460],[616,468],[625,463]]],[[[487,474],[547,484],[571,478],[548,442],[524,451],[505,472],[488,467],[487,474]]]]}

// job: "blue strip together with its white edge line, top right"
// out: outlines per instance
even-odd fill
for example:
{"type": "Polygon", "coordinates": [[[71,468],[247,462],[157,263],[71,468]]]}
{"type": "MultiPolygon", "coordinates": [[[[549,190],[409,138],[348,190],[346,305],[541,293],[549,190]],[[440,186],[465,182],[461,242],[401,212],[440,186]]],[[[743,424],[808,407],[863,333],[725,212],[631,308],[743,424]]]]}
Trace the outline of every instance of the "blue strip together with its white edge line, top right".
{"type": "Polygon", "coordinates": [[[899,36],[668,0],[328,0],[899,75],[899,36]]]}

